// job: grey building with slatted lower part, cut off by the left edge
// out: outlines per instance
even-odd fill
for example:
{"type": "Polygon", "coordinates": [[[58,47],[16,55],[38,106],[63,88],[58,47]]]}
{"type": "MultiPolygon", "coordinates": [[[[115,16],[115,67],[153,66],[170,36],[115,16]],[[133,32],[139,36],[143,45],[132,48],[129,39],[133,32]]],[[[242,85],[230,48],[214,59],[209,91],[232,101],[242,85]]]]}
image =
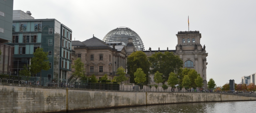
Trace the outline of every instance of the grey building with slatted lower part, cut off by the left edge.
{"type": "Polygon", "coordinates": [[[0,74],[13,71],[13,46],[6,45],[12,41],[13,0],[0,0],[0,74]]]}

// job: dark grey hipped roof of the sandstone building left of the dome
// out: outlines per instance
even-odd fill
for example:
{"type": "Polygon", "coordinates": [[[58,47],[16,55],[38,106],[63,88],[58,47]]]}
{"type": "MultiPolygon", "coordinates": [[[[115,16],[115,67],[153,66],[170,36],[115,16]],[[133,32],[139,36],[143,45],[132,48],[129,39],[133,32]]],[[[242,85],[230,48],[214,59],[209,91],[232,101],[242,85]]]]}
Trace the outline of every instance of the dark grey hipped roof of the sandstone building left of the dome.
{"type": "Polygon", "coordinates": [[[90,47],[90,46],[108,46],[108,44],[106,44],[105,42],[103,42],[102,40],[100,40],[94,36],[90,39],[83,41],[82,43],[88,47],[90,47]]]}

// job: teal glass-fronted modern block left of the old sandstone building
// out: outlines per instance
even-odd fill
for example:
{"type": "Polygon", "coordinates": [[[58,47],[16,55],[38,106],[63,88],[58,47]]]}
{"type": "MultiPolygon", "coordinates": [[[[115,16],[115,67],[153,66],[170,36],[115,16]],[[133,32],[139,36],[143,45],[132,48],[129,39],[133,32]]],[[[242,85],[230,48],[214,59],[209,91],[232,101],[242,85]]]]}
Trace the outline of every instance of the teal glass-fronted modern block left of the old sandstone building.
{"type": "MultiPolygon", "coordinates": [[[[67,71],[71,71],[71,29],[56,19],[13,20],[12,26],[12,41],[6,44],[14,47],[13,70],[17,74],[24,64],[31,64],[33,52],[37,48],[43,48],[44,52],[48,52],[51,68],[42,70],[42,77],[55,80],[67,78],[67,71]]],[[[39,74],[33,76],[40,77],[39,74]]]]}

